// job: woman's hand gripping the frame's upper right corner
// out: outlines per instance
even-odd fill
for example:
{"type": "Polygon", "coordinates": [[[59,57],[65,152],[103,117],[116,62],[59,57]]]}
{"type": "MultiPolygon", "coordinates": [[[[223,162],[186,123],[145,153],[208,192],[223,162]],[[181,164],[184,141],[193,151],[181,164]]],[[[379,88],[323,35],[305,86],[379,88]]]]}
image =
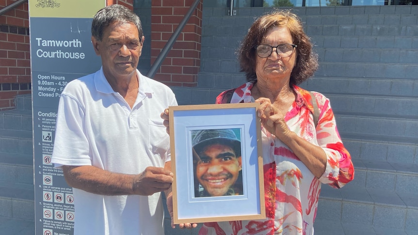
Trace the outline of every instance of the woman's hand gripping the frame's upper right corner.
{"type": "Polygon", "coordinates": [[[260,106],[257,109],[257,114],[260,117],[261,124],[264,128],[280,140],[288,137],[291,131],[285,121],[286,113],[283,113],[274,107],[268,98],[260,97],[256,100],[256,102],[260,103],[260,106]]]}

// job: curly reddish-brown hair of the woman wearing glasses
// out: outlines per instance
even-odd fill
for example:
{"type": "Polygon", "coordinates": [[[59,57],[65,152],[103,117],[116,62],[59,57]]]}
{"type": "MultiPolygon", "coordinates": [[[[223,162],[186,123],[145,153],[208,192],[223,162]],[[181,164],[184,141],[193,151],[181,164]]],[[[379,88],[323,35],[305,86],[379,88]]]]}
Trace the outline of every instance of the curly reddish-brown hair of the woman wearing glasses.
{"type": "Polygon", "coordinates": [[[276,26],[287,27],[292,35],[293,44],[298,46],[295,48],[296,65],[290,74],[290,84],[298,85],[318,69],[318,55],[312,51],[312,43],[302,27],[299,16],[289,10],[274,10],[256,19],[237,51],[241,72],[245,72],[247,81],[257,80],[257,53],[254,47],[259,45],[266,33],[276,26]]]}

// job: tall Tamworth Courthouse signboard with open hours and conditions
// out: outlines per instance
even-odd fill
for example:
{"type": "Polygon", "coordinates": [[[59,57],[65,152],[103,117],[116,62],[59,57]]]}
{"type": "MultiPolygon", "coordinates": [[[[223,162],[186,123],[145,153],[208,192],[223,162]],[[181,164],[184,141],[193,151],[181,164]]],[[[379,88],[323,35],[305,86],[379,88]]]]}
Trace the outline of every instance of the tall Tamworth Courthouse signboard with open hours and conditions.
{"type": "Polygon", "coordinates": [[[50,163],[60,94],[100,69],[91,22],[105,0],[29,0],[32,68],[35,235],[73,235],[72,188],[50,163]]]}

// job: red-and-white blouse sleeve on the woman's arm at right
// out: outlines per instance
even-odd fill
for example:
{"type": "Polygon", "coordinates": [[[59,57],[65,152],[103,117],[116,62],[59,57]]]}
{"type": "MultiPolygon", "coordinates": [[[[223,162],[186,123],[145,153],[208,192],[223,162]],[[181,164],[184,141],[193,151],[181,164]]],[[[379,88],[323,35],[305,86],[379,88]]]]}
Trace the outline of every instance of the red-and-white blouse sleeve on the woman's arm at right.
{"type": "Polygon", "coordinates": [[[333,188],[341,188],[354,179],[353,162],[339,136],[329,99],[322,94],[314,94],[321,110],[316,127],[317,141],[327,156],[325,172],[319,180],[333,188]]]}

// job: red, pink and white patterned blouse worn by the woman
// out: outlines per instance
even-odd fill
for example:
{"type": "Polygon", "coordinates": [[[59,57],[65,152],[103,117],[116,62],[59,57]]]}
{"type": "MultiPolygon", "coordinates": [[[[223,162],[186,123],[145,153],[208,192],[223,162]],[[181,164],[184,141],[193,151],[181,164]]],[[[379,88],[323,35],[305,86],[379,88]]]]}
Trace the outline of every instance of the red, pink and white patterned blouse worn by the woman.
{"type": "MultiPolygon", "coordinates": [[[[232,92],[230,103],[254,102],[253,82],[225,91],[216,103],[225,103],[232,92]]],[[[261,127],[266,219],[204,223],[199,235],[312,235],[318,207],[321,183],[341,188],[354,178],[350,154],[338,134],[329,100],[314,92],[320,110],[318,125],[313,121],[310,94],[293,86],[297,98],[286,114],[289,129],[327,155],[326,169],[320,179],[272,134],[261,127]]]]}

